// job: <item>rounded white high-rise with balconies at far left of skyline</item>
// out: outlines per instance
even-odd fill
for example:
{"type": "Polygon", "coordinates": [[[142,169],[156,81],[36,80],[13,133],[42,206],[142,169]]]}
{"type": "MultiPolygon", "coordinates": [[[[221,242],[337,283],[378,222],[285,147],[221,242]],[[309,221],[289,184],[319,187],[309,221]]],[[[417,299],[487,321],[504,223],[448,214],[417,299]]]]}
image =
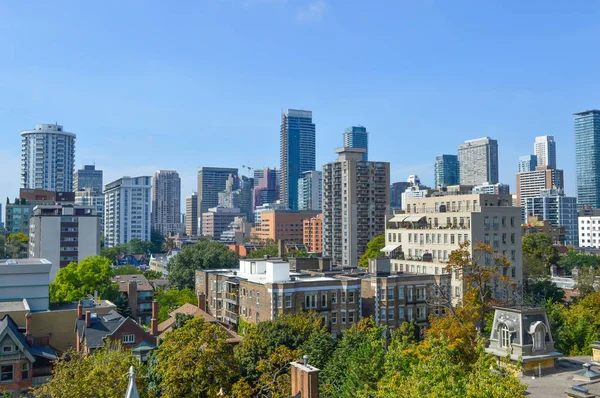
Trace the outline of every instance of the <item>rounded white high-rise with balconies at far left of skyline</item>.
{"type": "Polygon", "coordinates": [[[36,124],[21,132],[21,186],[73,191],[75,134],[59,124],[36,124]]]}

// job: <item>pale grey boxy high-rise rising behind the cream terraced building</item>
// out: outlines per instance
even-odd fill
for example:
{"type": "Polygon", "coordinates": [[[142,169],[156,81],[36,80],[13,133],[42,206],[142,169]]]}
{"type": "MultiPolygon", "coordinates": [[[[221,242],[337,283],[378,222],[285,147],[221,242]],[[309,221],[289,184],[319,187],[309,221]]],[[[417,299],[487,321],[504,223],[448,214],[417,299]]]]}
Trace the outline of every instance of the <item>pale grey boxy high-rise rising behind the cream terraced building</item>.
{"type": "Polygon", "coordinates": [[[498,141],[484,137],[460,144],[458,167],[461,185],[497,184],[498,141]]]}

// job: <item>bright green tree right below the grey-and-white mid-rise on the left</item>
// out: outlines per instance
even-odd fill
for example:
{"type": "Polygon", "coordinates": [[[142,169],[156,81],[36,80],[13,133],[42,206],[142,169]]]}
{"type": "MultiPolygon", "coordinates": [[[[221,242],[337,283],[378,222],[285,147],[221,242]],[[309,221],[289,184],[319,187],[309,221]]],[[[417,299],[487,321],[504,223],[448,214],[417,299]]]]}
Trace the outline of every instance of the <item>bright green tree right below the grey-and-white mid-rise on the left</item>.
{"type": "Polygon", "coordinates": [[[98,292],[101,298],[114,300],[119,295],[118,286],[111,282],[114,275],[110,261],[105,257],[88,257],[70,263],[58,270],[50,284],[50,302],[65,303],[85,298],[98,292]]]}

